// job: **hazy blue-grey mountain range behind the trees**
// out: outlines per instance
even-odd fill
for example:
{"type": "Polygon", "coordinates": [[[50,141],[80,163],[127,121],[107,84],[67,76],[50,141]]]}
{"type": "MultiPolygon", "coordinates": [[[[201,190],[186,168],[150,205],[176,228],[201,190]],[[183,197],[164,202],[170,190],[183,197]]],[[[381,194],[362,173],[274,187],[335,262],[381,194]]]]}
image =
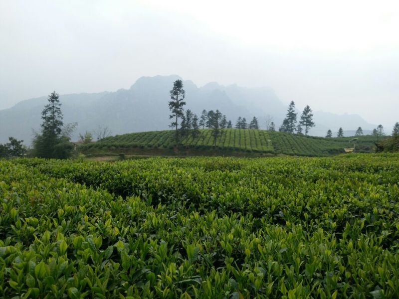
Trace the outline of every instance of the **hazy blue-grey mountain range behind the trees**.
{"type": "MultiPolygon", "coordinates": [[[[169,91],[177,79],[182,78],[177,75],[141,77],[127,90],[60,95],[64,123],[78,123],[74,140],[77,140],[79,133],[98,126],[108,127],[113,135],[166,130],[170,124],[169,91]]],[[[288,107],[269,88],[245,88],[236,84],[222,86],[216,82],[198,87],[190,80],[184,80],[183,84],[187,102],[185,109],[191,109],[198,115],[203,109],[219,109],[233,124],[239,116],[245,117],[248,122],[256,116],[260,127],[264,128],[265,116],[271,115],[278,128],[288,107]]],[[[30,144],[32,130],[40,130],[41,111],[46,103],[47,97],[44,96],[1,110],[0,143],[7,142],[8,136],[13,136],[30,144]]],[[[357,115],[316,112],[314,119],[317,127],[311,130],[311,134],[317,136],[324,136],[328,129],[335,132],[337,127],[344,130],[356,130],[359,126],[363,129],[376,127],[357,115]]]]}

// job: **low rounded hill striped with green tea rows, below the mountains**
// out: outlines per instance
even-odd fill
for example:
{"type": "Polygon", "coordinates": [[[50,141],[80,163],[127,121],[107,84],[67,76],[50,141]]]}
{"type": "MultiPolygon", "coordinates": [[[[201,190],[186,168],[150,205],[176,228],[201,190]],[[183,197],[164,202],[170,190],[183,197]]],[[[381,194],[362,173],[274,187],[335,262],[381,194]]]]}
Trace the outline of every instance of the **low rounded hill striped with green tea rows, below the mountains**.
{"type": "MultiPolygon", "coordinates": [[[[321,156],[344,152],[344,148],[352,148],[352,137],[321,138],[298,136],[281,132],[263,130],[225,129],[218,138],[216,147],[210,130],[201,130],[200,137],[191,136],[182,140],[184,147],[180,154],[291,154],[321,156]]],[[[80,147],[84,153],[135,153],[135,154],[176,154],[174,151],[175,135],[170,131],[142,132],[117,135],[105,138],[97,143],[80,147]]],[[[374,136],[362,136],[357,141],[359,151],[372,151],[374,136]]]]}

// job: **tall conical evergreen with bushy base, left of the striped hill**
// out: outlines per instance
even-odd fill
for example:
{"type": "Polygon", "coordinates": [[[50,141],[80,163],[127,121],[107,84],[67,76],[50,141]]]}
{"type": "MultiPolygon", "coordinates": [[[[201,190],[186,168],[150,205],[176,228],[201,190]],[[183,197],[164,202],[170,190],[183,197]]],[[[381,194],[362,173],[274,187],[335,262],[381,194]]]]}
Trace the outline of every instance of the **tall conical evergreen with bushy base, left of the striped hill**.
{"type": "Polygon", "coordinates": [[[68,158],[73,146],[70,137],[62,134],[63,115],[59,96],[54,91],[48,96],[48,104],[41,113],[41,134],[33,139],[34,155],[42,158],[68,158]]]}

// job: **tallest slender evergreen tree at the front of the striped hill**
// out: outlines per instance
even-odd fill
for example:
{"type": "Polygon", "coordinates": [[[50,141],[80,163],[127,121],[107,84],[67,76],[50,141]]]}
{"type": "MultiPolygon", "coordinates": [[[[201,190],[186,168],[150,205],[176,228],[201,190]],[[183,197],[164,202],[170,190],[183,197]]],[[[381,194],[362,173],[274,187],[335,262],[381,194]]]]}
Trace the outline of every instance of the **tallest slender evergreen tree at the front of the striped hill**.
{"type": "Polygon", "coordinates": [[[169,101],[169,110],[172,114],[169,116],[170,119],[175,119],[170,125],[170,127],[176,128],[176,146],[179,144],[179,118],[184,116],[183,113],[183,106],[186,105],[184,98],[186,96],[186,92],[183,89],[183,82],[182,80],[176,80],[173,83],[173,89],[170,91],[171,94],[171,101],[169,101]]]}

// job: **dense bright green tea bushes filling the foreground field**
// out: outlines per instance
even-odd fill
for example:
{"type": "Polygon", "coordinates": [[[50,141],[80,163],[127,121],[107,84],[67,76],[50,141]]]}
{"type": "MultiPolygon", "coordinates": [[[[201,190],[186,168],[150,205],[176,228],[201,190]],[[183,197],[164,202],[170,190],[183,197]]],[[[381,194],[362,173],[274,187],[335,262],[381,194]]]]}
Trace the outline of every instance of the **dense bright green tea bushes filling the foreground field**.
{"type": "Polygon", "coordinates": [[[399,154],[0,160],[1,298],[399,298],[399,154]]]}

